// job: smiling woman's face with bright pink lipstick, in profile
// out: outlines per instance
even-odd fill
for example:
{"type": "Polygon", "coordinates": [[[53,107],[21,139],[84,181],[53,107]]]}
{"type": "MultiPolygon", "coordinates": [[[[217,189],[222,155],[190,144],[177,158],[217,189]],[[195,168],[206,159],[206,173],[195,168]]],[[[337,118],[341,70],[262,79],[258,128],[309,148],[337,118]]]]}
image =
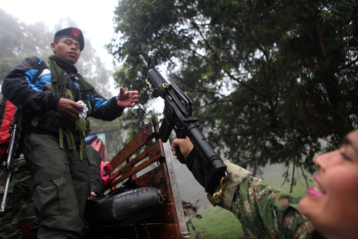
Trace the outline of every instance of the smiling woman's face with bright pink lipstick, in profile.
{"type": "Polygon", "coordinates": [[[358,130],[345,137],[341,148],[318,156],[315,164],[317,186],[308,189],[299,210],[326,238],[357,238],[358,130]]]}

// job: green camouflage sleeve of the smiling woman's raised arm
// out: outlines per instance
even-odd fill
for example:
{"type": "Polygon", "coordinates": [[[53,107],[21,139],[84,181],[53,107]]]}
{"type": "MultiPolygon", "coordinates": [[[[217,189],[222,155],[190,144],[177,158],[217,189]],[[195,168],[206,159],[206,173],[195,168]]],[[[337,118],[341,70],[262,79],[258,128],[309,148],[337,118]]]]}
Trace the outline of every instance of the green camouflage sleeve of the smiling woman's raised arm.
{"type": "Polygon", "coordinates": [[[257,238],[311,237],[313,226],[298,211],[300,199],[283,190],[274,190],[235,164],[225,164],[228,166],[227,188],[223,193],[226,200],[219,206],[232,211],[257,238]]]}

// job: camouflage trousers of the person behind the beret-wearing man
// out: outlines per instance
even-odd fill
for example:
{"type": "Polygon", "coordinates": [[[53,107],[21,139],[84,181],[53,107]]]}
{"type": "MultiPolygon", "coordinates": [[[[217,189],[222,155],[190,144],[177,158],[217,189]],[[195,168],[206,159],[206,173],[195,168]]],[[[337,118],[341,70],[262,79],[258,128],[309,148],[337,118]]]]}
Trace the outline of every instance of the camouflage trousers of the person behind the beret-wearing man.
{"type": "MultiPolygon", "coordinates": [[[[3,200],[6,172],[0,173],[0,193],[3,200]]],[[[22,235],[21,223],[26,215],[26,206],[31,201],[30,185],[32,176],[25,160],[16,162],[13,178],[10,182],[6,198],[5,212],[0,214],[0,238],[20,239],[22,235]]]]}

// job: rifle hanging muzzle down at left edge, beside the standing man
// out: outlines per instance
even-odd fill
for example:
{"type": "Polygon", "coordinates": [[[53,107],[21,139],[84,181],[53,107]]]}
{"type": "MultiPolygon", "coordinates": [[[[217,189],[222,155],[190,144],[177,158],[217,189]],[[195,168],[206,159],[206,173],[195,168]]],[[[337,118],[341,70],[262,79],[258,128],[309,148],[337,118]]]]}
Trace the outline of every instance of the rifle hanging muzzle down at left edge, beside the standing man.
{"type": "Polygon", "coordinates": [[[22,122],[22,111],[16,108],[13,123],[10,123],[9,133],[10,144],[8,148],[8,158],[6,162],[3,162],[3,170],[8,172],[8,176],[6,177],[6,185],[4,191],[3,201],[1,202],[0,212],[5,212],[6,207],[6,198],[8,197],[8,191],[10,186],[11,178],[13,177],[14,171],[14,161],[18,159],[20,156],[19,149],[19,141],[20,141],[20,131],[21,131],[21,122],[22,122]]]}

